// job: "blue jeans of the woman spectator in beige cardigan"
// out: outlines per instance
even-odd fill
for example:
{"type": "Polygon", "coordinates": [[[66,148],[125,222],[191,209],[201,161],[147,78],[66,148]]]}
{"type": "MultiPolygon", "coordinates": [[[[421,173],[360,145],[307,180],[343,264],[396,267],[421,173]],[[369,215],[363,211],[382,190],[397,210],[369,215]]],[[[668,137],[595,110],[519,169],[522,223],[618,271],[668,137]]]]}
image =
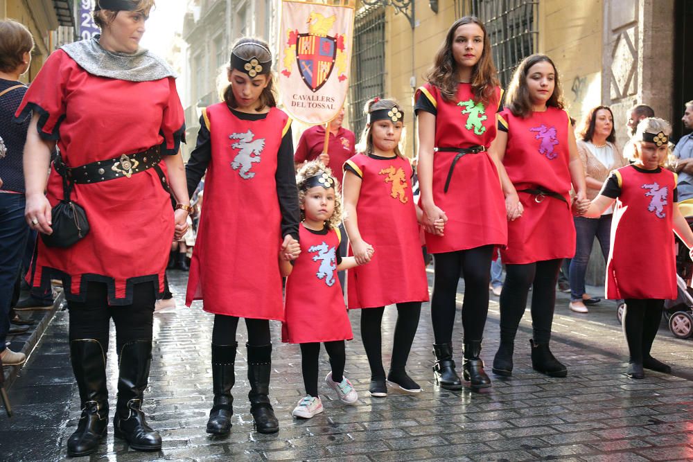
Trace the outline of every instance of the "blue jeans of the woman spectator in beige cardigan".
{"type": "Polygon", "coordinates": [[[575,256],[570,262],[570,300],[582,300],[585,293],[585,273],[590,260],[595,236],[602,247],[604,260],[608,258],[611,238],[611,217],[602,215],[599,218],[574,217],[575,220],[575,256]]]}

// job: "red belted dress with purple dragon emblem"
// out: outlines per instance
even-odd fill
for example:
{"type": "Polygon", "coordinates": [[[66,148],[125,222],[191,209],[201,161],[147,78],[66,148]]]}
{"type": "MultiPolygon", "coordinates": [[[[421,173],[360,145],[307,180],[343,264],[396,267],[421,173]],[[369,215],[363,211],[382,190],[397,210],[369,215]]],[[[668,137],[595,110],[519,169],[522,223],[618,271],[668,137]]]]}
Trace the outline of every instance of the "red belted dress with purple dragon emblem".
{"type": "Polygon", "coordinates": [[[547,107],[529,118],[509,109],[498,114],[500,130],[507,131],[503,165],[515,188],[550,190],[566,202],[520,193],[524,212],[508,222],[508,245],[501,250],[503,263],[520,265],[575,254],[575,226],[570,211],[570,118],[563,109],[547,107]],[[541,199],[540,199],[541,200],[541,199]]]}

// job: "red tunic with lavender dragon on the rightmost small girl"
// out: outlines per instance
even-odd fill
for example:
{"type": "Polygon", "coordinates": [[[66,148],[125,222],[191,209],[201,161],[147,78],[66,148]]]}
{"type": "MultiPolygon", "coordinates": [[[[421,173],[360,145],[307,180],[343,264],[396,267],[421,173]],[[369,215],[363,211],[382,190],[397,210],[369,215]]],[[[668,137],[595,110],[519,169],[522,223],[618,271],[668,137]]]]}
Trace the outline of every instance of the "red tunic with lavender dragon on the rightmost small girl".
{"type": "Polygon", "coordinates": [[[676,299],[676,175],[664,169],[638,172],[633,166],[619,168],[615,175],[621,194],[611,222],[606,298],[676,299]]]}

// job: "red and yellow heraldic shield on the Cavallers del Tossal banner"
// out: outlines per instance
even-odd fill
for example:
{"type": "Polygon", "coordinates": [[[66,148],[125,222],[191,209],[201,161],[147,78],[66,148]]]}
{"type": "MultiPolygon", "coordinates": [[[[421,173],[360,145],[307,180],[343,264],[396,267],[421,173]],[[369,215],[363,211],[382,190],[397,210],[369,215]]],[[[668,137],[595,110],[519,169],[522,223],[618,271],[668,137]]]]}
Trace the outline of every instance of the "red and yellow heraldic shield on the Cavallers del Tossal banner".
{"type": "Polygon", "coordinates": [[[327,81],[335,65],[337,39],[329,36],[299,34],[296,57],[308,88],[317,91],[327,81]]]}

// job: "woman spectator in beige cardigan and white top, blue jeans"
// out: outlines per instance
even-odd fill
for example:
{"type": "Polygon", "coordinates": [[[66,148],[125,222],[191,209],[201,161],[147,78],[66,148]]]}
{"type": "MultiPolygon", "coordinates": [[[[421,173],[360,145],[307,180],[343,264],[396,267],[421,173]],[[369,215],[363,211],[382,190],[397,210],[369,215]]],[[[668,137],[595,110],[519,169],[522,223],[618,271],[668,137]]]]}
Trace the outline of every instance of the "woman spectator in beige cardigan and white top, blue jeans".
{"type": "MultiPolygon", "coordinates": [[[[587,198],[590,200],[597,197],[612,170],[628,164],[615,141],[611,109],[606,106],[591,109],[577,140],[577,152],[585,168],[587,198]]],[[[604,260],[608,259],[612,216],[613,207],[609,207],[599,218],[574,217],[577,240],[569,271],[570,310],[574,312],[586,313],[586,305],[601,301],[585,293],[585,273],[595,236],[602,247],[604,260]]]]}

